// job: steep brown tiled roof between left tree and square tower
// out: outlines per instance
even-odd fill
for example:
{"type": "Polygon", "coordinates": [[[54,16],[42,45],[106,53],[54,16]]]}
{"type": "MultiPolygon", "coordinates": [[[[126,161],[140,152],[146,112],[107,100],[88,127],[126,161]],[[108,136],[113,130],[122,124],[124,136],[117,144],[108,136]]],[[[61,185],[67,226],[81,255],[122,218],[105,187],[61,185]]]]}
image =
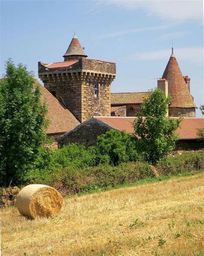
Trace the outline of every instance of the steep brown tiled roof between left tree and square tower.
{"type": "Polygon", "coordinates": [[[71,131],[80,122],[71,114],[71,112],[60,104],[60,102],[51,94],[44,86],[36,80],[36,83],[41,88],[41,101],[46,102],[48,113],[47,117],[50,120],[47,128],[47,134],[61,133],[71,131]]]}

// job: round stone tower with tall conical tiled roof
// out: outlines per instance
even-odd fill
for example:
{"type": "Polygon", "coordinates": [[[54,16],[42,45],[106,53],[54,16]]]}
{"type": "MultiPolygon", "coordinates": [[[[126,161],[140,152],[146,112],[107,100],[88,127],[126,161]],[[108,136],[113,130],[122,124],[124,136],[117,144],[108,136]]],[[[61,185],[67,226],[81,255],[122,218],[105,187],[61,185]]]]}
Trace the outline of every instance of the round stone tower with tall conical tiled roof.
{"type": "Polygon", "coordinates": [[[173,48],[162,78],[168,81],[168,93],[172,97],[169,116],[195,117],[195,108],[197,107],[190,94],[190,79],[182,76],[173,48]]]}

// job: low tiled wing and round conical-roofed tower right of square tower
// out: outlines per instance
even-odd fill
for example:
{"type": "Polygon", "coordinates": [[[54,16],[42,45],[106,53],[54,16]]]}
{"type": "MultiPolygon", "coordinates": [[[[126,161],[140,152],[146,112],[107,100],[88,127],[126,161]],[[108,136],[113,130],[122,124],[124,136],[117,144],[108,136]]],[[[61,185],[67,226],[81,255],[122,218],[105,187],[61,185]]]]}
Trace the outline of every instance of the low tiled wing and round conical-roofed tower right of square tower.
{"type": "MultiPolygon", "coordinates": [[[[158,88],[164,90],[166,96],[170,94],[172,97],[169,116],[195,117],[197,107],[190,94],[190,78],[182,76],[173,48],[164,74],[161,79],[158,79],[158,88]]],[[[111,93],[111,115],[135,116],[136,112],[140,111],[141,103],[149,93],[111,93]],[[123,106],[123,109],[121,109],[121,106],[123,106]]]]}

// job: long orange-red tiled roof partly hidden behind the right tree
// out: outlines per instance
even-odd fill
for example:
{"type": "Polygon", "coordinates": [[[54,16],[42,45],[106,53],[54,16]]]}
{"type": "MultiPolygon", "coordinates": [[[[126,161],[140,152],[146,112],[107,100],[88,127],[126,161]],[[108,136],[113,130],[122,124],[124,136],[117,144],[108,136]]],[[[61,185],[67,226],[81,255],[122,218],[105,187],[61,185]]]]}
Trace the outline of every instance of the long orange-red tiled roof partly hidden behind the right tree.
{"type": "MultiPolygon", "coordinates": [[[[133,122],[135,117],[101,117],[95,116],[94,118],[105,122],[119,131],[133,133],[133,122]]],[[[183,118],[181,128],[177,129],[180,139],[196,139],[197,129],[204,128],[204,118],[183,118]]]]}

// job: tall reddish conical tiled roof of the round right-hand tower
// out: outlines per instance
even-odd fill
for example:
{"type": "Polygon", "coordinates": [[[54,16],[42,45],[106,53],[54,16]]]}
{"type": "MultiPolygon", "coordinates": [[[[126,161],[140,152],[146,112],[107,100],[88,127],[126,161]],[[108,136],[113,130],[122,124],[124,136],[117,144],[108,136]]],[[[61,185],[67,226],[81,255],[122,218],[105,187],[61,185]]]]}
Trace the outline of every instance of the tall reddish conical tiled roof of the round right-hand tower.
{"type": "Polygon", "coordinates": [[[179,64],[173,54],[173,48],[162,78],[168,81],[168,91],[172,97],[171,108],[196,108],[189,89],[185,84],[179,64]]]}

